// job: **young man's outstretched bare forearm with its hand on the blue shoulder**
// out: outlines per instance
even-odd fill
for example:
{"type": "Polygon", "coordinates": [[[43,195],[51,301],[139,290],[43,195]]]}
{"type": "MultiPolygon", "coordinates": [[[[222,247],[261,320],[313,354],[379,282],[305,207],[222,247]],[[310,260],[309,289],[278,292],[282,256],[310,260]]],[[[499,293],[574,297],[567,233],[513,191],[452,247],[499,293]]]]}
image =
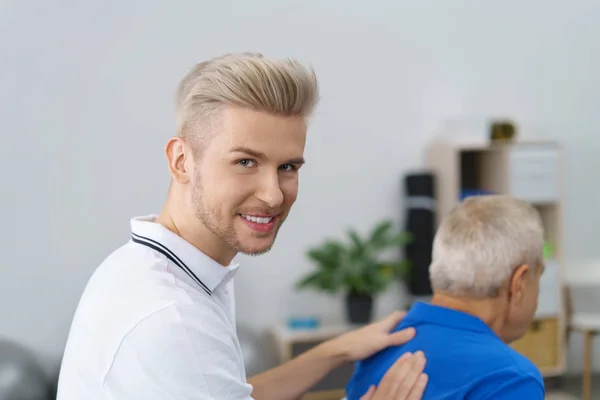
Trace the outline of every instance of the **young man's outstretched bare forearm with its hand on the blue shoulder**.
{"type": "Polygon", "coordinates": [[[297,399],[342,364],[362,360],[388,346],[407,342],[414,336],[413,329],[390,334],[402,316],[402,313],[394,313],[383,321],[324,342],[279,367],[251,378],[253,398],[297,399]]]}

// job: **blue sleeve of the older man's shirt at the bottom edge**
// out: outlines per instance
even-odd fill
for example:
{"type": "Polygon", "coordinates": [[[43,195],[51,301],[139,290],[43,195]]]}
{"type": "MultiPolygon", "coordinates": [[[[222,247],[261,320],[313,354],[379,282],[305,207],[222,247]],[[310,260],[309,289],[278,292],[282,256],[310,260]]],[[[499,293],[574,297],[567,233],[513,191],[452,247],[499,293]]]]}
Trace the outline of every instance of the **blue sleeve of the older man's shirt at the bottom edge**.
{"type": "Polygon", "coordinates": [[[527,399],[544,400],[545,390],[537,374],[505,373],[486,380],[485,385],[469,393],[468,400],[527,399]]]}

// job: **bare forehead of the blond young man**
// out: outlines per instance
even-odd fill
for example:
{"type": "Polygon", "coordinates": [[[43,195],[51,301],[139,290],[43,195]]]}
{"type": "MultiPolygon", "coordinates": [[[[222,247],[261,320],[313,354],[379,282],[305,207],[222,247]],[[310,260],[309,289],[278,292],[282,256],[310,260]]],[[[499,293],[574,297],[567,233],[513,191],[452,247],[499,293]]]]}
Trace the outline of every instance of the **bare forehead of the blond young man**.
{"type": "Polygon", "coordinates": [[[247,147],[267,155],[292,152],[295,157],[304,151],[307,126],[299,116],[227,107],[220,115],[218,130],[223,148],[247,147]]]}

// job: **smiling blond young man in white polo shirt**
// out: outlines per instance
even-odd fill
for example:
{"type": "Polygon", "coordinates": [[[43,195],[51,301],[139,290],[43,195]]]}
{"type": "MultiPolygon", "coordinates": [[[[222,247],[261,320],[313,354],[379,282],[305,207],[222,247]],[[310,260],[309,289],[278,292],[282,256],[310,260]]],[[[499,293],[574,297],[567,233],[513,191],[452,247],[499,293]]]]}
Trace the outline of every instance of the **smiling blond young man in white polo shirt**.
{"type": "MultiPolygon", "coordinates": [[[[411,339],[394,314],[246,380],[236,336],[238,253],[269,251],[298,193],[313,71],[227,55],[197,65],[176,96],[166,145],[172,182],[160,215],[90,279],[75,314],[58,400],[297,399],[342,363],[411,339]]],[[[398,362],[364,399],[419,399],[425,358],[398,362]]],[[[367,392],[368,388],[365,388],[367,392]]]]}

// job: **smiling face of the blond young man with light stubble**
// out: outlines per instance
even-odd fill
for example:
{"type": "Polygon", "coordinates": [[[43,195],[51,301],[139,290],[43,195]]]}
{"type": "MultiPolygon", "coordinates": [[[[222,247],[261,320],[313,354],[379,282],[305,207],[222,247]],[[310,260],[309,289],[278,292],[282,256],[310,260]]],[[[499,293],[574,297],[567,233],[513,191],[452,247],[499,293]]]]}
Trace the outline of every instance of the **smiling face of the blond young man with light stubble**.
{"type": "Polygon", "coordinates": [[[196,217],[228,250],[265,253],[298,196],[306,123],[228,107],[213,129],[193,165],[196,217]]]}

